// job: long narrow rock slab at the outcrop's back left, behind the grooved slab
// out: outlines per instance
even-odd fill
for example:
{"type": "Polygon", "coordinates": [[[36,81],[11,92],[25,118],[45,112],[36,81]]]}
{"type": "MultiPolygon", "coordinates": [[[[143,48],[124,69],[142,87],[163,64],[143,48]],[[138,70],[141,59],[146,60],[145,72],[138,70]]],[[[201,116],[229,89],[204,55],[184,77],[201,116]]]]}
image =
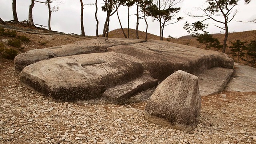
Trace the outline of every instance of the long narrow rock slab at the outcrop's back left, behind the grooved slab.
{"type": "Polygon", "coordinates": [[[68,44],[64,46],[34,49],[16,56],[14,59],[14,68],[18,71],[21,71],[24,67],[30,64],[34,64],[35,62],[39,62],[40,60],[62,56],[73,56],[78,54],[106,52],[106,49],[111,46],[134,44],[137,42],[145,42],[145,40],[97,38],[93,40],[79,41],[75,44],[68,44]]]}

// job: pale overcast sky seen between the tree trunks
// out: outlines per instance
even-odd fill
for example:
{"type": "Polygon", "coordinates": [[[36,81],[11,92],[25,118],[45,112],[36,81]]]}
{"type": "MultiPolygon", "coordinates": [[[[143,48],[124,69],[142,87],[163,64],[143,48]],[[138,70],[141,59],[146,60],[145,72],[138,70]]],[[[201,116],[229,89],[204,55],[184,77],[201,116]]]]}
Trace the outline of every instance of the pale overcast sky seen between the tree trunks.
{"type": "MultiPolygon", "coordinates": [[[[43,0],[41,0],[43,1],[43,0]]],[[[52,13],[52,30],[81,34],[80,28],[80,14],[81,5],[80,0],[61,0],[64,4],[59,5],[59,11],[52,13]]],[[[93,3],[95,0],[83,0],[84,4],[93,3]]],[[[17,14],[18,20],[28,20],[28,8],[31,0],[17,0],[17,14]]],[[[52,6],[55,4],[52,3],[52,6]]],[[[98,0],[98,19],[99,34],[102,34],[104,21],[106,19],[106,13],[101,10],[102,0],[98,0]]],[[[178,16],[184,17],[184,19],[176,24],[171,24],[164,28],[164,37],[169,35],[175,38],[188,35],[186,30],[183,29],[186,21],[192,23],[198,21],[198,19],[187,16],[186,13],[200,14],[200,11],[196,11],[196,7],[204,8],[206,6],[205,0],[184,0],[180,5],[181,10],[178,16]]],[[[256,18],[256,0],[252,0],[250,4],[245,5],[243,0],[240,0],[239,6],[236,7],[238,13],[232,22],[228,24],[230,32],[241,32],[247,30],[256,30],[255,23],[241,23],[237,21],[250,21],[256,18]]],[[[95,36],[96,20],[94,18],[95,6],[84,6],[84,28],[85,33],[88,36],[95,36]]],[[[135,8],[130,9],[130,28],[136,28],[136,13],[135,8]]],[[[122,6],[118,9],[118,14],[121,18],[122,26],[127,28],[127,8],[122,6]]],[[[12,0],[0,0],[0,17],[4,21],[12,20],[12,0]]],[[[34,24],[40,24],[48,26],[48,8],[44,4],[35,3],[33,8],[34,24]]],[[[147,18],[149,27],[148,32],[151,34],[159,35],[159,24],[157,21],[152,21],[151,17],[147,18]]],[[[214,25],[222,26],[213,21],[208,21],[209,28],[207,29],[210,34],[223,32],[220,28],[214,25]]],[[[46,27],[47,28],[47,27],[46,27]]],[[[110,17],[110,30],[120,28],[116,14],[110,17]]],[[[145,31],[146,24],[144,20],[140,20],[139,30],[145,31]]]]}

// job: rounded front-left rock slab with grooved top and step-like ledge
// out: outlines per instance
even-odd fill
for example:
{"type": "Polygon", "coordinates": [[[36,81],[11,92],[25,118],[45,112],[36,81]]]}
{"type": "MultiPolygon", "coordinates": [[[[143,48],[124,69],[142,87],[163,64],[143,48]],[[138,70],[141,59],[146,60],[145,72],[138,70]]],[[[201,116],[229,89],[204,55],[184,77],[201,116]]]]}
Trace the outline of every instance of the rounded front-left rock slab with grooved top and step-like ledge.
{"type": "Polygon", "coordinates": [[[140,60],[112,52],[42,60],[26,66],[20,80],[57,100],[121,103],[157,85],[157,80],[142,74],[140,60]]]}

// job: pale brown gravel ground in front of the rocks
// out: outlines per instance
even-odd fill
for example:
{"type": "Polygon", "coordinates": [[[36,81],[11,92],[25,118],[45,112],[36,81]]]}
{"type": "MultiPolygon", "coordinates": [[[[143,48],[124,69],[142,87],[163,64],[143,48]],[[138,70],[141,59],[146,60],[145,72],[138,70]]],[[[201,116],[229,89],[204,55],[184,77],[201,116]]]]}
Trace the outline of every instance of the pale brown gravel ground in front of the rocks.
{"type": "Polygon", "coordinates": [[[256,144],[256,92],[202,97],[200,124],[182,132],[148,122],[146,102],[56,102],[0,71],[0,144],[256,144]]]}

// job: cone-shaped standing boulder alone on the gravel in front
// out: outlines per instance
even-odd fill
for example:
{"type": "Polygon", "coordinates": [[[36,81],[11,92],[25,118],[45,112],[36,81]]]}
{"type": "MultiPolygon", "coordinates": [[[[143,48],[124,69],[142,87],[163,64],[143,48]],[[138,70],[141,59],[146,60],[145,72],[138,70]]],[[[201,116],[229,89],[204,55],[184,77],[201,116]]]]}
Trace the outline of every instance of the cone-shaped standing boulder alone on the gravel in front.
{"type": "Polygon", "coordinates": [[[178,70],[156,88],[144,116],[152,123],[190,131],[198,124],[200,107],[198,77],[178,70]]]}

